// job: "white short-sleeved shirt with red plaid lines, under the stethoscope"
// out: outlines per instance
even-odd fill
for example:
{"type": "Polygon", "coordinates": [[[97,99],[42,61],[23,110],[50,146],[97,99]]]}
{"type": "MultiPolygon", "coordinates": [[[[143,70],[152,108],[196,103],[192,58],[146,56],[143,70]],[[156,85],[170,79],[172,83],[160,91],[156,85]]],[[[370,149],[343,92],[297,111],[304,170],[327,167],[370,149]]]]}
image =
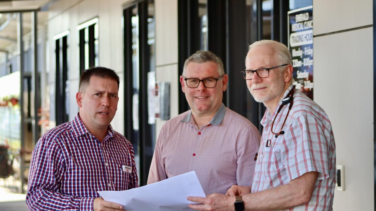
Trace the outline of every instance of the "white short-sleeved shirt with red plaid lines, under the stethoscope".
{"type": "MultiPolygon", "coordinates": [[[[286,90],[284,96],[291,90],[286,90]]],[[[273,115],[268,110],[261,120],[264,126],[261,147],[252,184],[252,193],[287,184],[307,172],[318,172],[311,200],[290,210],[332,210],[335,188],[335,143],[328,116],[314,101],[295,91],[293,107],[283,127],[285,134],[277,138],[271,124],[282,103],[273,115]],[[267,140],[271,141],[271,145],[267,140]]],[[[274,122],[278,132],[287,115],[285,105],[274,122]]]]}

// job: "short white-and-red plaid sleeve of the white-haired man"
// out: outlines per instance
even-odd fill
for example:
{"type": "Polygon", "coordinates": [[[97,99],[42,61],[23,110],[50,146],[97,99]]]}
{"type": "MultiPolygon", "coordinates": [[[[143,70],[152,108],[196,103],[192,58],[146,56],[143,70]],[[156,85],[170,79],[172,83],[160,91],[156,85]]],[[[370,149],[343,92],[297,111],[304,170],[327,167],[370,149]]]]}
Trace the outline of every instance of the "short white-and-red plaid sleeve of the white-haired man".
{"type": "Polygon", "coordinates": [[[331,130],[316,118],[302,115],[284,138],[281,156],[290,180],[312,171],[318,172],[319,180],[329,178],[331,130]]]}

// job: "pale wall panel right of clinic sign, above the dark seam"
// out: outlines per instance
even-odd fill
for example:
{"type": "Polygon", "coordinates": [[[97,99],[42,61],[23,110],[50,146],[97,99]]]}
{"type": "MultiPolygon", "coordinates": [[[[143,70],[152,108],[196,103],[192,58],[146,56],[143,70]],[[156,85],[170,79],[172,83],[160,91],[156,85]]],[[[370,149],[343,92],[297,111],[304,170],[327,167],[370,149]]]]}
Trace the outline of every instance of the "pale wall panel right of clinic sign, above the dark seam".
{"type": "Polygon", "coordinates": [[[370,0],[314,0],[314,35],[372,24],[370,0]]]}

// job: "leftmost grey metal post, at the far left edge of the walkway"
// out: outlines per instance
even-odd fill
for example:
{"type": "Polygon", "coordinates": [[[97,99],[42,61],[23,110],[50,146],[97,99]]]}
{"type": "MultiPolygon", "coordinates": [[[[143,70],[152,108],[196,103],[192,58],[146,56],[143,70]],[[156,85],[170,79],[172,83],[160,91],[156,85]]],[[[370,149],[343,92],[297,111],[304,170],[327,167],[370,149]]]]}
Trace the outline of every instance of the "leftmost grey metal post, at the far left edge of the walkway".
{"type": "Polygon", "coordinates": [[[25,82],[24,82],[24,46],[23,46],[23,27],[22,27],[22,12],[17,14],[17,50],[20,52],[20,56],[18,56],[18,66],[20,67],[20,108],[21,108],[21,150],[20,150],[20,157],[21,157],[21,193],[25,193],[24,190],[24,170],[25,170],[25,158],[23,154],[23,149],[25,148],[25,110],[24,110],[24,89],[25,89],[25,82]]]}

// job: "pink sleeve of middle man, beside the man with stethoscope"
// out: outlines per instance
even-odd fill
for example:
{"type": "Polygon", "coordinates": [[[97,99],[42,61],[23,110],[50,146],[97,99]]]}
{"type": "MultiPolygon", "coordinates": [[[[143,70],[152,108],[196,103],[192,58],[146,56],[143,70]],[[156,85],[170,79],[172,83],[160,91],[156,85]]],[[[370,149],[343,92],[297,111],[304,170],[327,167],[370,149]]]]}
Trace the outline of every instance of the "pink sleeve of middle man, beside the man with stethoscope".
{"type": "Polygon", "coordinates": [[[255,126],[250,126],[244,135],[237,140],[237,183],[242,186],[252,186],[255,171],[255,155],[260,148],[260,132],[255,126]]]}

